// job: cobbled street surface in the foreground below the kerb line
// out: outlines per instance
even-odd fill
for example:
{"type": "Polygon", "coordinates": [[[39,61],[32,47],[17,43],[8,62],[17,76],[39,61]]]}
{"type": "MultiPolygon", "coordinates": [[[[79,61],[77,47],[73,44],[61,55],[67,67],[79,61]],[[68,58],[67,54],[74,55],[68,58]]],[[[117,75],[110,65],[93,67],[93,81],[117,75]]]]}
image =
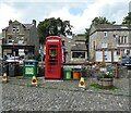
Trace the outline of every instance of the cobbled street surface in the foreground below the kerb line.
{"type": "Polygon", "coordinates": [[[2,108],[4,111],[129,111],[129,97],[7,84],[2,108]]]}

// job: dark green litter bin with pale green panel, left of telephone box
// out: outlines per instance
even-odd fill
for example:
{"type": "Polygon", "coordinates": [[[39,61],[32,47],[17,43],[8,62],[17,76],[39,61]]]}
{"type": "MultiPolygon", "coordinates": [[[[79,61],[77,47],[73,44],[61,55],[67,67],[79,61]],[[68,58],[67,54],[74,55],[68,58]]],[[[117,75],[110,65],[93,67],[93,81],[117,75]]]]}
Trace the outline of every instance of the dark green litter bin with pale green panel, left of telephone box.
{"type": "Polygon", "coordinates": [[[23,74],[26,77],[38,76],[38,61],[36,60],[24,61],[23,74]]]}

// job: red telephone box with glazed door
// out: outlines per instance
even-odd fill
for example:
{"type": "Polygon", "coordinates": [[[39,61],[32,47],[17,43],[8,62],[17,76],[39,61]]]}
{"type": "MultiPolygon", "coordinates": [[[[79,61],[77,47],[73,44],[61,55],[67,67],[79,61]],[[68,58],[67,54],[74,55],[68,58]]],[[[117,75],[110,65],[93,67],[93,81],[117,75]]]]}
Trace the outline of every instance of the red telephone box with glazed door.
{"type": "Polygon", "coordinates": [[[45,78],[61,78],[61,37],[46,38],[45,78]]]}

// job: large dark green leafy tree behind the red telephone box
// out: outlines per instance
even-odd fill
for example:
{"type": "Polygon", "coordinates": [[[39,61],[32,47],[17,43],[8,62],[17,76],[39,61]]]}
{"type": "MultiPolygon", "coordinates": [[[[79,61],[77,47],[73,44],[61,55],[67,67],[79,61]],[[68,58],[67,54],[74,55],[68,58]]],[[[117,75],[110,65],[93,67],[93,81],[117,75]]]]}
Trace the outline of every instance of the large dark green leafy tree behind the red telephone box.
{"type": "Polygon", "coordinates": [[[39,22],[37,26],[39,42],[45,43],[47,36],[72,35],[72,27],[70,21],[62,21],[60,17],[46,18],[45,21],[39,22]]]}

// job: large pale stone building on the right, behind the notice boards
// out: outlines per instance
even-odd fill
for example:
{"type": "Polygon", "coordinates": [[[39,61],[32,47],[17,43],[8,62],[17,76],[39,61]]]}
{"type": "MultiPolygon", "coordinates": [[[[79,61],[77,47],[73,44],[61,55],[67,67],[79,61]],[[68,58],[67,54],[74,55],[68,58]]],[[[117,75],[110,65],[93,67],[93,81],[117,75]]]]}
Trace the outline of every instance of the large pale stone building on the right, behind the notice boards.
{"type": "Polygon", "coordinates": [[[131,27],[129,25],[92,25],[90,33],[90,60],[97,49],[117,49],[122,55],[131,55],[131,27]]]}

